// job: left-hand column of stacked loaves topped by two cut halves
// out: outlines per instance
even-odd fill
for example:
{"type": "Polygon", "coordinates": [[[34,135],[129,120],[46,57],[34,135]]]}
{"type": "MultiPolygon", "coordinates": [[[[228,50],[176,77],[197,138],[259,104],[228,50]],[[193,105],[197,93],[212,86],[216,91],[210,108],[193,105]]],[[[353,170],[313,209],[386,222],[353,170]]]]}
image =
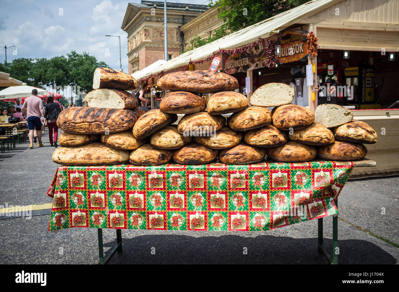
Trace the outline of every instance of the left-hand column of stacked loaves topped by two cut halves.
{"type": "Polygon", "coordinates": [[[127,163],[130,151],[144,144],[134,137],[131,128],[145,111],[125,91],[136,86],[136,80],[126,73],[97,68],[94,90],[86,95],[89,107],[70,107],[58,116],[62,147],[54,151],[53,161],[83,166],[127,163]]]}

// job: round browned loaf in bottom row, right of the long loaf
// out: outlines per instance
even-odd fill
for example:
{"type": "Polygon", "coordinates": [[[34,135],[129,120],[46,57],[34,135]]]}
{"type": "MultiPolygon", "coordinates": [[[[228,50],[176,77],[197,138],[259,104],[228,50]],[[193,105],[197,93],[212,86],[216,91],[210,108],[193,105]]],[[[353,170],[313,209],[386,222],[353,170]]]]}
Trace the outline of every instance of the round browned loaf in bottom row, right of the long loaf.
{"type": "Polygon", "coordinates": [[[130,153],[129,161],[134,165],[162,165],[172,159],[172,151],[158,149],[150,144],[144,144],[130,153]]]}

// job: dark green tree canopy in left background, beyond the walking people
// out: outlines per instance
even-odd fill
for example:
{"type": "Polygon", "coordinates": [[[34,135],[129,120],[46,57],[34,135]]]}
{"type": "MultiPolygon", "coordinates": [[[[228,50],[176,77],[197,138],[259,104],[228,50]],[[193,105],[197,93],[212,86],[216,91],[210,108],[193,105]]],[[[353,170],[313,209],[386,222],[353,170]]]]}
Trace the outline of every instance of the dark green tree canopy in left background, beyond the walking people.
{"type": "Polygon", "coordinates": [[[30,86],[80,86],[81,90],[93,90],[93,74],[97,67],[108,67],[88,53],[71,51],[67,56],[57,56],[49,60],[14,59],[12,63],[0,63],[0,71],[10,73],[12,78],[30,86]]]}

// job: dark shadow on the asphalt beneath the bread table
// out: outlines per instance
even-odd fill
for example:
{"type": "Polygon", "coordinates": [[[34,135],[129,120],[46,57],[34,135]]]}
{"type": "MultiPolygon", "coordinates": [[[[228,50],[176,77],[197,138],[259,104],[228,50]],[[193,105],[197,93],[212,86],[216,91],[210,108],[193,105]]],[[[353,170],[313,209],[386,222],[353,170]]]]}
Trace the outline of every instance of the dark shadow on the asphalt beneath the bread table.
{"type": "MultiPolygon", "coordinates": [[[[116,240],[104,244],[112,248],[116,240]]],[[[327,251],[332,240],[324,239],[327,251]]],[[[396,259],[377,245],[365,240],[338,241],[339,264],[396,264],[396,259]]],[[[110,264],[327,264],[318,255],[317,238],[291,238],[261,235],[240,237],[191,237],[186,235],[142,235],[122,237],[122,255],[114,255],[110,264]],[[151,254],[155,247],[155,255],[151,254]],[[243,254],[244,247],[247,255],[243,254]]],[[[107,252],[105,253],[107,255],[107,252]]]]}

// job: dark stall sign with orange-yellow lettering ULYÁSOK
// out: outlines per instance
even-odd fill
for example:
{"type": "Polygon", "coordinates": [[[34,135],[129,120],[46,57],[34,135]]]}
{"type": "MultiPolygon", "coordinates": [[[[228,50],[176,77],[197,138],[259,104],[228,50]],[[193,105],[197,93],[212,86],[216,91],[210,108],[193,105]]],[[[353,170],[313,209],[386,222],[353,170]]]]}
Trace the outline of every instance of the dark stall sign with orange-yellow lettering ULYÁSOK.
{"type": "Polygon", "coordinates": [[[308,33],[309,31],[304,29],[292,29],[279,36],[277,45],[281,45],[281,51],[277,57],[280,63],[290,63],[307,57],[306,41],[308,33]]]}

